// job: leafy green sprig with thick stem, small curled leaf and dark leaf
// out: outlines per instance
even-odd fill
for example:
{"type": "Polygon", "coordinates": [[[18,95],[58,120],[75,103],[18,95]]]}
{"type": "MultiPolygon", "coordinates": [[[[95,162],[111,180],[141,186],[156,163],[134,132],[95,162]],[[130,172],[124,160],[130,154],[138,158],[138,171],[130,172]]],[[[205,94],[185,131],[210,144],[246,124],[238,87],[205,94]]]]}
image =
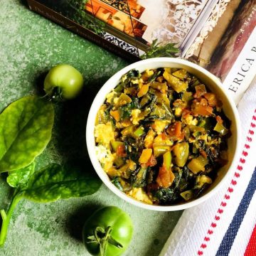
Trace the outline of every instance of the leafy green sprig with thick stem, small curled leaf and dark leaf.
{"type": "Polygon", "coordinates": [[[0,246],[4,245],[11,215],[22,198],[47,203],[58,199],[91,195],[101,186],[98,178],[79,168],[70,169],[58,164],[50,164],[35,173],[33,169],[34,165],[31,164],[10,174],[8,178],[8,183],[16,187],[16,191],[7,212],[0,210],[2,218],[0,246]]]}

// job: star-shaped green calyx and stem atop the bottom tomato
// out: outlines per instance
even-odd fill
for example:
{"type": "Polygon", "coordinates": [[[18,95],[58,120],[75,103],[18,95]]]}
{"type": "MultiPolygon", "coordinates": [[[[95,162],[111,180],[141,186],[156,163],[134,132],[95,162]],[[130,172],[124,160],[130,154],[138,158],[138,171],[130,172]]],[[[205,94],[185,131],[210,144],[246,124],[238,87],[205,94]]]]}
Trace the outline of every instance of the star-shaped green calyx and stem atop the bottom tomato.
{"type": "Polygon", "coordinates": [[[90,242],[97,242],[100,245],[100,255],[105,256],[107,251],[107,243],[122,248],[123,246],[117,242],[117,240],[114,240],[111,236],[112,233],[112,227],[107,227],[106,229],[102,227],[97,227],[94,230],[94,235],[90,235],[87,237],[87,243],[90,242]]]}

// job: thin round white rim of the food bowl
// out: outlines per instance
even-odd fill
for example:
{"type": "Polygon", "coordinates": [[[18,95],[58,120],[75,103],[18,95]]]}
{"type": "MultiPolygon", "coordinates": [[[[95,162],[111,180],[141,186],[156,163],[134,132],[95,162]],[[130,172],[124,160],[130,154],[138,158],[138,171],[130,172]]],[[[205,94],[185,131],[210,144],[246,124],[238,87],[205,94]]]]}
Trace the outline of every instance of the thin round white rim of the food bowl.
{"type": "MultiPolygon", "coordinates": [[[[144,70],[146,70],[146,68],[144,68],[144,70]]],[[[105,185],[108,188],[110,188],[110,190],[113,193],[115,193],[117,196],[119,196],[119,198],[122,198],[124,201],[127,201],[128,203],[132,203],[132,205],[134,205],[134,206],[138,206],[140,208],[144,208],[147,210],[157,210],[157,211],[184,210],[186,208],[191,208],[193,206],[197,206],[199,203],[203,203],[204,201],[206,201],[206,199],[213,196],[213,194],[216,193],[220,189],[221,186],[223,186],[225,181],[228,180],[229,176],[232,173],[230,170],[235,168],[235,165],[237,164],[237,159],[239,156],[238,154],[240,153],[240,150],[239,150],[239,148],[240,148],[240,118],[239,118],[239,114],[238,114],[238,109],[235,106],[235,102],[230,98],[230,96],[228,95],[228,92],[223,87],[220,80],[217,77],[215,77],[215,75],[211,74],[208,70],[202,68],[201,66],[199,66],[195,63],[191,63],[188,60],[183,60],[180,58],[166,58],[166,57],[150,58],[150,59],[146,59],[146,60],[139,60],[136,63],[127,65],[127,67],[122,68],[122,70],[119,70],[117,73],[112,75],[112,77],[109,80],[107,80],[107,82],[105,82],[104,85],[102,85],[100,90],[97,92],[95,99],[92,102],[92,105],[90,107],[90,111],[89,111],[89,114],[87,117],[86,144],[87,144],[87,151],[90,156],[90,161],[92,162],[92,166],[94,167],[95,171],[97,172],[97,175],[100,176],[100,179],[102,180],[102,182],[105,183],[105,185]],[[220,182],[212,190],[208,191],[205,195],[201,196],[200,198],[196,198],[193,201],[185,202],[182,204],[177,204],[174,206],[159,206],[159,205],[151,205],[151,204],[143,203],[142,201],[137,201],[135,198],[132,198],[131,196],[128,196],[126,193],[120,191],[110,181],[110,178],[107,176],[105,171],[100,166],[100,162],[98,161],[97,156],[95,154],[94,129],[95,129],[95,117],[96,117],[97,110],[98,110],[98,107],[96,108],[95,105],[98,105],[99,102],[101,102],[101,104],[104,102],[107,93],[110,92],[115,86],[117,86],[117,81],[119,81],[119,79],[122,77],[122,75],[127,73],[129,70],[132,70],[133,68],[139,69],[139,67],[141,65],[146,65],[146,64],[148,64],[149,68],[150,68],[150,65],[152,65],[154,63],[161,63],[161,62],[163,62],[163,63],[168,62],[170,64],[186,65],[186,66],[188,66],[192,69],[196,69],[199,72],[203,73],[204,75],[208,76],[208,78],[210,78],[210,80],[212,80],[215,83],[215,85],[217,85],[219,87],[221,93],[223,93],[223,95],[225,95],[225,97],[227,98],[228,104],[230,105],[230,109],[232,110],[233,115],[235,117],[235,120],[233,120],[233,122],[235,122],[234,127],[235,127],[235,132],[236,132],[236,142],[235,142],[236,147],[235,147],[235,152],[233,155],[233,161],[230,164],[230,167],[227,170],[226,174],[223,176],[223,178],[221,178],[220,182]]]]}

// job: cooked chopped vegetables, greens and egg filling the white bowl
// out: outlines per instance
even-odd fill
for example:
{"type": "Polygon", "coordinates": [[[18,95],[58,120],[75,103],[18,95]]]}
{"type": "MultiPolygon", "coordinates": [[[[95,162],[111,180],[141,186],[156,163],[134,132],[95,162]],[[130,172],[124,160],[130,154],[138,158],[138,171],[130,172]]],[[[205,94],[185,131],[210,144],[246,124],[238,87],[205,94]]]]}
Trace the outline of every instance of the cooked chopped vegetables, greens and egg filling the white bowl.
{"type": "Polygon", "coordinates": [[[150,204],[201,196],[228,161],[229,136],[218,96],[177,68],[130,70],[95,122],[97,158],[112,183],[150,204]]]}

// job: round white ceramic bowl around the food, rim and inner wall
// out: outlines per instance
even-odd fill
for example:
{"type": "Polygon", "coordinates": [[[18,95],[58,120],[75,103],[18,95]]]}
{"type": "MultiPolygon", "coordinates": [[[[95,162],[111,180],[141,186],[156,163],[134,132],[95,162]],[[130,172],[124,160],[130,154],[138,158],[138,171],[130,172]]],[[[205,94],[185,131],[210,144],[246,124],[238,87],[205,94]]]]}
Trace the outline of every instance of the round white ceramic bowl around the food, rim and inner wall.
{"type": "Polygon", "coordinates": [[[105,85],[102,86],[100,91],[97,93],[95,100],[92,102],[92,106],[90,108],[89,116],[87,119],[87,127],[86,127],[86,142],[87,149],[89,152],[90,160],[92,161],[92,165],[95,168],[95,171],[100,176],[105,185],[110,188],[112,192],[114,192],[117,196],[124,199],[129,203],[132,203],[134,206],[139,206],[141,208],[149,209],[149,210],[161,210],[161,211],[171,211],[171,210],[183,210],[186,208],[191,208],[193,206],[198,205],[198,203],[202,203],[206,201],[206,199],[210,198],[220,187],[225,183],[228,178],[228,174],[230,174],[230,169],[235,168],[236,159],[238,159],[238,148],[239,148],[239,136],[240,134],[240,122],[238,116],[238,110],[235,107],[235,104],[232,99],[228,97],[227,92],[223,89],[223,85],[220,80],[216,78],[214,75],[209,73],[204,68],[200,66],[188,62],[187,60],[181,60],[178,58],[151,58],[148,60],[141,60],[137,63],[133,63],[132,65],[128,65],[126,68],[123,68],[115,75],[112,76],[105,85]],[[206,86],[210,89],[210,91],[214,92],[220,100],[223,102],[223,111],[228,119],[231,120],[231,133],[232,136],[228,139],[228,164],[223,166],[220,171],[218,171],[218,176],[211,184],[210,188],[199,198],[194,199],[193,201],[186,203],[178,203],[176,205],[171,206],[156,206],[149,205],[147,203],[143,203],[141,201],[137,201],[136,199],[127,196],[127,194],[119,191],[119,189],[114,186],[114,184],[110,181],[110,178],[107,176],[105,171],[100,166],[100,162],[97,160],[97,156],[95,154],[95,137],[94,137],[94,129],[95,129],[95,119],[97,110],[99,110],[100,106],[105,101],[105,97],[107,93],[109,93],[114,87],[117,86],[119,79],[127,73],[129,70],[133,68],[142,72],[146,69],[151,68],[184,68],[188,70],[189,73],[196,75],[202,82],[206,84],[206,86]]]}

